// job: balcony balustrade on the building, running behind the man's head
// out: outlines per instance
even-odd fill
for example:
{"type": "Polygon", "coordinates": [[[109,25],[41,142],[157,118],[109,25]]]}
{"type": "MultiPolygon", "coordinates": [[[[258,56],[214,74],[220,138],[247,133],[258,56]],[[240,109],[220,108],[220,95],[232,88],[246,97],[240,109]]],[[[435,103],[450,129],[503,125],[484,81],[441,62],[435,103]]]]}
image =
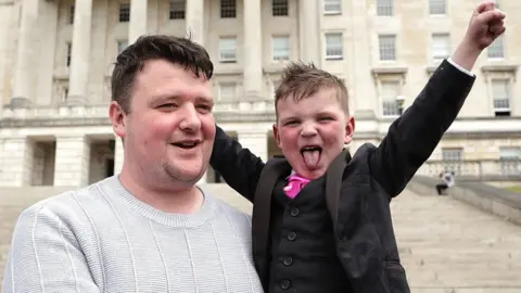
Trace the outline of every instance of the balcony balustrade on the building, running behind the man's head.
{"type": "MultiPolygon", "coordinates": [[[[217,102],[214,107],[214,113],[217,114],[237,112],[271,113],[274,112],[274,102],[270,100],[217,102]]],[[[55,119],[64,117],[105,118],[109,117],[109,104],[5,107],[0,110],[0,119],[55,119]]]]}

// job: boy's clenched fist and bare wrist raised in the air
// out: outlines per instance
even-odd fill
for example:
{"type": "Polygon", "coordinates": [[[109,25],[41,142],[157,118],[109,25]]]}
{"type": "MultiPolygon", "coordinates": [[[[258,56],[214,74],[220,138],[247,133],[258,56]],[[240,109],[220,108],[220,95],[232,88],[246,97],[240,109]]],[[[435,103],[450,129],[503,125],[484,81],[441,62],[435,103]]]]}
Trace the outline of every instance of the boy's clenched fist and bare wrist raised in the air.
{"type": "Polygon", "coordinates": [[[481,52],[505,33],[505,13],[494,1],[485,1],[474,10],[463,40],[454,52],[453,61],[471,71],[481,52]]]}

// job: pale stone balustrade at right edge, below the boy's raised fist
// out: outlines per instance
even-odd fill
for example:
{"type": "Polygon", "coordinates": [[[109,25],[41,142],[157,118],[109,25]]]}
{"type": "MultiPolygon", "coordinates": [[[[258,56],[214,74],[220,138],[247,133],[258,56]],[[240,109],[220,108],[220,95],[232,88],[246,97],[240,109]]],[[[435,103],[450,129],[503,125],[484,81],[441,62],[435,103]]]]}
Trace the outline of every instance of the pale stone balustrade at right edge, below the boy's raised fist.
{"type": "Polygon", "coordinates": [[[418,175],[439,177],[454,171],[459,181],[521,180],[521,160],[428,161],[418,175]]]}

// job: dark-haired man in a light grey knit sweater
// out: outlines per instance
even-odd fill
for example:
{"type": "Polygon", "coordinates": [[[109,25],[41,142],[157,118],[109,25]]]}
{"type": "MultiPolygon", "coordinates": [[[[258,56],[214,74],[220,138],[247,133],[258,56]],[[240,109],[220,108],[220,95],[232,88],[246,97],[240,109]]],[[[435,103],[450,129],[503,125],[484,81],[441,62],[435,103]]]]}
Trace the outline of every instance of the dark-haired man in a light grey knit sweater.
{"type": "Polygon", "coordinates": [[[251,219],[194,186],[215,138],[212,74],[189,39],[142,37],[118,55],[123,170],[22,213],[5,293],[262,292],[251,219]]]}

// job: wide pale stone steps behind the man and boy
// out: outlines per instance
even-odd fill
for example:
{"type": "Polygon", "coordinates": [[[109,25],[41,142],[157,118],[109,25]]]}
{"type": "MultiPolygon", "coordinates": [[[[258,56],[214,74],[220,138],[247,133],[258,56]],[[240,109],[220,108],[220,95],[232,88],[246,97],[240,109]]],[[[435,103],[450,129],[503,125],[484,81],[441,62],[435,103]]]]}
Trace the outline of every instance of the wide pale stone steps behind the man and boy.
{"type": "MultiPolygon", "coordinates": [[[[225,184],[204,188],[238,208],[251,211],[251,204],[225,184]]],[[[65,189],[0,189],[0,276],[20,212],[65,189]]],[[[433,194],[419,195],[406,190],[392,203],[396,237],[411,291],[521,292],[521,226],[452,198],[433,194]]]]}

